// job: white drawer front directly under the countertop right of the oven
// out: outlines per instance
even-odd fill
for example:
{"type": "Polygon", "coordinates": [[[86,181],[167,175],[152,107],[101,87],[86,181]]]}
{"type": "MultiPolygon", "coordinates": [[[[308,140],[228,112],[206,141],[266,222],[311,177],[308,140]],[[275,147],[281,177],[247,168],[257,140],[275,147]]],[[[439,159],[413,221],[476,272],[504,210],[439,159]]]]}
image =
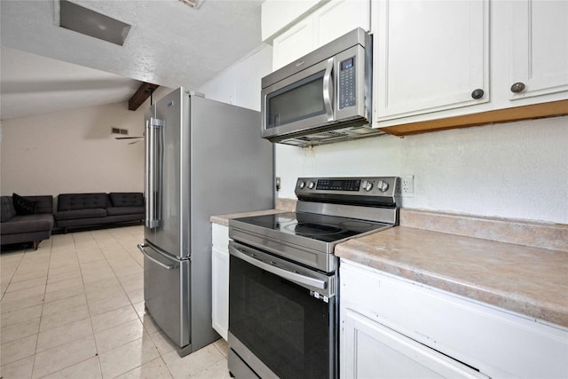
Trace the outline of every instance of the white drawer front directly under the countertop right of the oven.
{"type": "Polygon", "coordinates": [[[494,377],[568,377],[564,328],[345,261],[340,281],[342,315],[359,312],[494,377]]]}

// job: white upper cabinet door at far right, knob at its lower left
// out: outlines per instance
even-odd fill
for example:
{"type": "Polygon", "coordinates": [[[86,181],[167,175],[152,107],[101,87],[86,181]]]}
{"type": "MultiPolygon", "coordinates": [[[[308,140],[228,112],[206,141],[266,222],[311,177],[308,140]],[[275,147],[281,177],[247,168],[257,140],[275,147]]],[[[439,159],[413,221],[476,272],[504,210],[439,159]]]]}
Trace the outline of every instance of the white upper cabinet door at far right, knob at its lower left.
{"type": "Polygon", "coordinates": [[[511,89],[509,99],[568,91],[568,2],[517,0],[509,22],[509,85],[525,86],[511,89]]]}

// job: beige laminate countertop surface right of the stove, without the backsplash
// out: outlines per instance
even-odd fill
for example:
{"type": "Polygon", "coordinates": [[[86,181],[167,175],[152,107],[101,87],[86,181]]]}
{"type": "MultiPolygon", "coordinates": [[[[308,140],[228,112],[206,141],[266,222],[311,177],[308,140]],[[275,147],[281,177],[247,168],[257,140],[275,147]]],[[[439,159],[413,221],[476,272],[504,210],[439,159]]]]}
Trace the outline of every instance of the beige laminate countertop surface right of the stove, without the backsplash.
{"type": "Polygon", "coordinates": [[[568,253],[396,226],[335,256],[568,328],[568,253]]]}

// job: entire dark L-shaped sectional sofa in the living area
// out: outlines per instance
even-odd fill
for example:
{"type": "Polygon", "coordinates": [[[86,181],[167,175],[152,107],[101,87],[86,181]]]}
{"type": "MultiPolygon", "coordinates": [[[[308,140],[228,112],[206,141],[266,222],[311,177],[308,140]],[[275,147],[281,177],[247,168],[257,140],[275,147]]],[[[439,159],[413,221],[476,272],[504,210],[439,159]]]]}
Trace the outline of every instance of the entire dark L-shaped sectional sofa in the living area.
{"type": "Polygon", "coordinates": [[[62,193],[57,212],[53,196],[2,196],[0,233],[2,245],[39,242],[51,237],[55,228],[91,227],[145,218],[143,193],[62,193]]]}

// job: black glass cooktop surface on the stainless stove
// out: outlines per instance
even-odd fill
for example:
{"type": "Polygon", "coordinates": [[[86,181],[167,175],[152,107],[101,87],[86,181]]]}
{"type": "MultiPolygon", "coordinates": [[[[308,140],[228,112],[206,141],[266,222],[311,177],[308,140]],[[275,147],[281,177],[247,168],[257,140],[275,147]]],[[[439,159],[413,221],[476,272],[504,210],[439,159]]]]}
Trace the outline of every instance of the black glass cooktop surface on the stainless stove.
{"type": "MultiPolygon", "coordinates": [[[[241,217],[235,218],[234,221],[253,225],[256,231],[265,228],[272,236],[274,233],[283,233],[285,236],[303,237],[323,242],[340,241],[392,226],[355,218],[301,212],[241,217]]],[[[284,235],[283,238],[285,238],[284,235]]]]}

